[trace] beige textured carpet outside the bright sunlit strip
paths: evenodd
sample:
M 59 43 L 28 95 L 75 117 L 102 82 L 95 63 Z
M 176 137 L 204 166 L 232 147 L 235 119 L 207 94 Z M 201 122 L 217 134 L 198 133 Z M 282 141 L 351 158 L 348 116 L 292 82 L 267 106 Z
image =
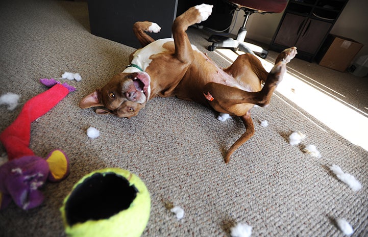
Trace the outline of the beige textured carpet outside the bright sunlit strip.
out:
M 1 210 L 0 236 L 65 236 L 59 212 L 64 197 L 84 175 L 106 167 L 128 169 L 148 187 L 152 209 L 142 236 L 230 236 L 236 223 L 251 225 L 252 236 L 342 236 L 339 218 L 353 226 L 352 236 L 368 235 L 368 152 L 297 112 L 281 94 L 269 107 L 252 109 L 256 134 L 226 165 L 224 152 L 244 132 L 240 119 L 220 122 L 199 104 L 176 98 L 153 99 L 130 120 L 79 109 L 79 100 L 120 72 L 134 50 L 90 34 L 86 3 L 1 1 L 0 23 L 0 94 L 21 95 L 14 111 L 0 107 L 0 131 L 27 100 L 46 90 L 39 78 L 64 71 L 82 76 L 81 82 L 68 82 L 77 91 L 31 127 L 31 149 L 42 157 L 64 150 L 70 175 L 42 188 L 41 206 L 24 211 L 12 203 Z M 208 52 L 208 33 L 190 29 L 189 36 Z M 215 52 L 208 55 L 229 65 Z M 268 59 L 276 55 L 270 52 Z M 298 59 L 289 66 L 343 91 L 357 108 L 367 107 L 366 78 Z M 267 127 L 260 126 L 263 120 Z M 86 136 L 89 126 L 100 130 L 99 138 Z M 291 146 L 288 136 L 296 130 L 307 137 Z M 317 146 L 320 159 L 302 151 L 308 144 Z M 5 155 L 4 147 L 0 152 Z M 354 192 L 337 180 L 329 171 L 333 164 L 363 188 Z M 167 203 L 183 207 L 184 218 L 178 221 Z

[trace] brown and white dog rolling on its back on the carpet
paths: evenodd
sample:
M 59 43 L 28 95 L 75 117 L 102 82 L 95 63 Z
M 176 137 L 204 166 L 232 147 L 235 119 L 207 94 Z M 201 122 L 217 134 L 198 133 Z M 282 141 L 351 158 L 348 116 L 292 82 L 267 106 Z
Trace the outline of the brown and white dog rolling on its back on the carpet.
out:
M 97 114 L 131 118 L 151 98 L 177 96 L 219 113 L 238 116 L 246 132 L 228 150 L 228 163 L 230 155 L 254 134 L 250 109 L 254 104 L 267 106 L 282 80 L 286 63 L 297 50 L 292 47 L 281 52 L 269 73 L 252 54 L 239 56 L 222 70 L 190 44 L 185 32 L 190 25 L 206 20 L 211 12 L 212 6 L 202 4 L 178 16 L 172 28 L 174 39 L 155 41 L 145 32 L 158 32 L 160 27 L 148 21 L 136 22 L 133 30 L 143 48 L 133 52 L 131 64 L 123 72 L 84 97 L 79 106 L 98 107 Z

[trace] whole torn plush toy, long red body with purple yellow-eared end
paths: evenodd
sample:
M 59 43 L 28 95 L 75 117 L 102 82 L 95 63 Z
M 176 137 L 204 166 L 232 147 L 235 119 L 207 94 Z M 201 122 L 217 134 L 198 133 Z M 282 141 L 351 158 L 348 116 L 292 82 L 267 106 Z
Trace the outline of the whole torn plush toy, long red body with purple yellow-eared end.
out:
M 8 153 L 8 162 L 0 166 L 0 208 L 11 200 L 23 209 L 38 206 L 43 195 L 38 190 L 46 179 L 60 181 L 69 173 L 69 161 L 61 150 L 52 151 L 46 159 L 29 148 L 31 123 L 50 111 L 75 88 L 51 79 L 40 80 L 51 89 L 27 101 L 15 121 L 2 134 L 0 141 Z

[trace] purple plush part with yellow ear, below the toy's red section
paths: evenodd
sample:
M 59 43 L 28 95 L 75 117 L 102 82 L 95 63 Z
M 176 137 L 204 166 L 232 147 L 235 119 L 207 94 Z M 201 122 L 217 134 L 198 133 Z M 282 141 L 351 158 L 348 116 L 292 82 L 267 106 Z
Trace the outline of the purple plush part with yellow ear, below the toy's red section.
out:
M 43 202 L 38 189 L 48 181 L 60 181 L 69 174 L 67 156 L 61 150 L 53 150 L 46 159 L 36 155 L 22 156 L 0 167 L 0 208 L 11 200 L 24 210 Z

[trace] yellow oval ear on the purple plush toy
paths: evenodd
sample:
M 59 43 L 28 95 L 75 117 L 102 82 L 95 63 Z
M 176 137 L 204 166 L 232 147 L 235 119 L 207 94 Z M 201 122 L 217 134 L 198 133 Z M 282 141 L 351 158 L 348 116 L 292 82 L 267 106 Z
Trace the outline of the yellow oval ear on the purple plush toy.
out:
M 54 150 L 46 161 L 50 167 L 50 173 L 56 180 L 62 179 L 68 172 L 68 161 L 60 150 Z

